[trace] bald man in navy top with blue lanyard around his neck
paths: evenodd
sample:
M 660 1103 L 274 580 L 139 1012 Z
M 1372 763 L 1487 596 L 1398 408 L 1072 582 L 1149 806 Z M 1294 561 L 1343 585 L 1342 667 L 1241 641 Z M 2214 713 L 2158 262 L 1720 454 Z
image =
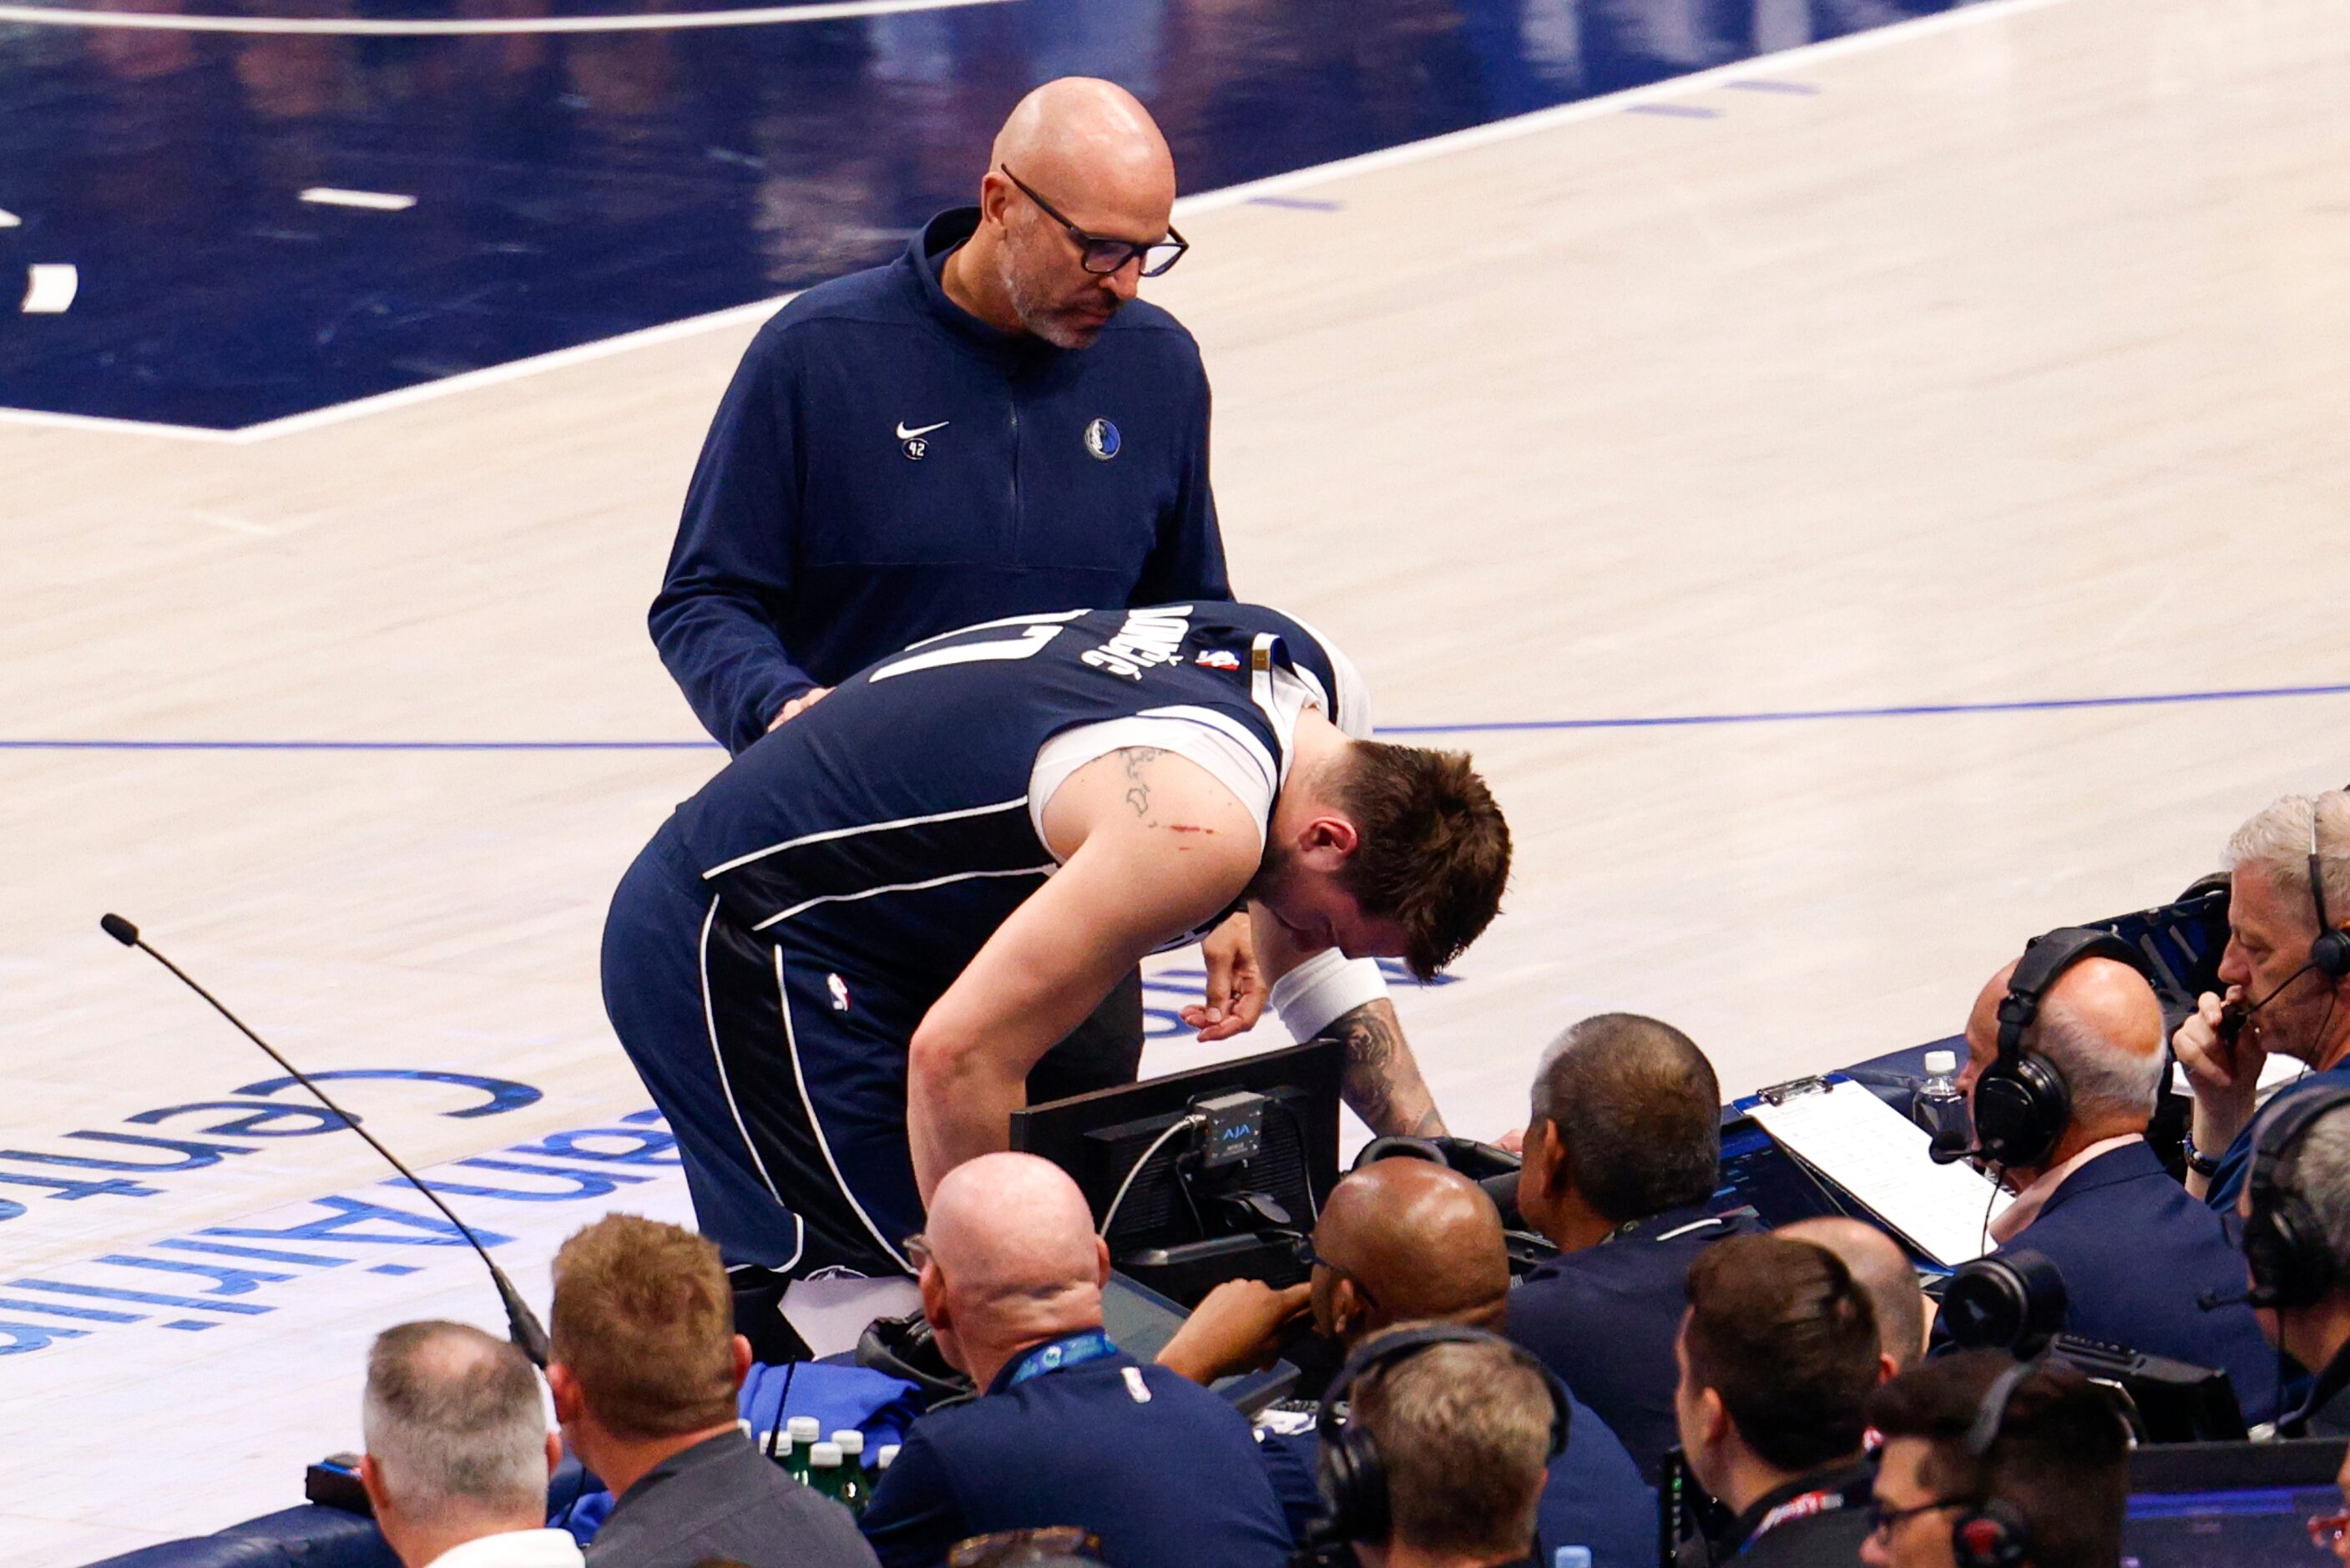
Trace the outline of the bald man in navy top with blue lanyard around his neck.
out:
M 1109 1248 L 1083 1194 L 1034 1154 L 949 1171 L 916 1237 L 921 1305 L 980 1399 L 905 1434 L 865 1509 L 886 1568 L 971 1535 L 1083 1526 L 1119 1568 L 1274 1568 L 1290 1554 L 1248 1422 L 1102 1333 Z

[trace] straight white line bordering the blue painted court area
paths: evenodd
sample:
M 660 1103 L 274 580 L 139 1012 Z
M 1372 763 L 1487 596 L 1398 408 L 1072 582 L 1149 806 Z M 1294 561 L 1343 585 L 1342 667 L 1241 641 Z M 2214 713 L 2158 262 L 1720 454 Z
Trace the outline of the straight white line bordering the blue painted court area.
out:
M 1685 92 L 1708 92 L 1713 87 L 1727 85 L 1732 78 L 1744 78 L 1753 73 L 1760 61 L 1770 61 L 1774 68 L 1810 66 L 1828 59 L 1840 59 L 1845 54 L 1866 54 L 1871 49 L 1882 49 L 1889 45 L 1911 42 L 1915 38 L 1932 38 L 1934 33 L 1948 33 L 1955 28 L 1974 26 L 1979 21 L 1993 21 L 2005 16 L 2019 16 L 2023 12 L 2037 12 L 2052 5 L 2063 5 L 2063 0 L 1981 0 L 1981 5 L 1967 5 L 1955 12 L 1936 12 L 1932 16 L 1918 16 L 1911 21 L 1894 21 L 1882 28 L 1871 28 L 1866 33 L 1847 33 L 1845 38 L 1826 38 L 1814 45 L 1802 45 L 1795 49 L 1781 49 L 1779 54 L 1760 54 L 1755 59 L 1732 61 L 1727 66 L 1716 66 L 1711 71 L 1697 71 L 1692 75 L 1676 75 L 1664 82 L 1650 82 L 1647 87 L 1629 87 L 1624 92 L 1612 92 L 1600 99 L 1582 99 L 1577 103 L 1558 103 L 1553 108 L 1537 108 L 1525 115 L 1513 115 L 1509 120 L 1495 120 L 1490 125 L 1473 125 L 1459 132 L 1445 132 L 1443 136 L 1429 136 L 1424 141 L 1405 141 L 1403 146 L 1379 148 L 1377 153 L 1361 153 L 1356 158 L 1340 158 L 1335 162 L 1314 165 L 1311 169 L 1292 169 L 1290 174 L 1274 174 L 1267 179 L 1250 181 L 1246 186 L 1227 186 L 1224 190 L 1203 190 L 1198 195 L 1187 195 L 1175 202 L 1177 214 L 1215 212 L 1217 207 L 1238 207 L 1241 202 L 1255 200 L 1260 195 L 1281 195 L 1288 190 L 1304 190 L 1335 179 L 1349 179 L 1354 174 L 1370 174 L 1375 169 L 1391 169 L 1398 165 L 1422 162 L 1426 158 L 1443 158 L 1448 153 L 1466 153 L 1471 148 L 1492 146 L 1499 141 L 1513 141 L 1518 136 L 1532 136 L 1560 125 L 1574 125 L 1577 120 L 1596 120 L 1600 115 L 1612 115 L 1633 103 L 1647 103 L 1654 99 L 1671 99 Z M 7 19 L 12 7 L 0 7 L 0 21 Z M 24 7 L 14 7 L 24 9 Z M 1718 134 L 1718 127 L 1708 125 L 1699 132 L 1694 125 L 1692 134 Z M 634 348 L 649 348 L 653 343 L 670 343 L 674 339 L 696 336 L 703 331 L 717 331 L 721 327 L 733 327 L 747 320 L 764 320 L 787 306 L 794 294 L 778 294 L 776 299 L 761 299 L 747 306 L 728 306 L 726 310 L 712 310 L 707 315 L 689 315 L 677 322 L 663 322 L 660 327 L 642 327 L 637 331 L 625 331 L 616 339 L 597 339 L 595 343 L 578 343 L 573 348 L 557 348 L 555 353 L 531 355 L 529 360 L 508 360 L 505 364 L 489 364 L 477 371 L 463 371 L 458 376 L 444 376 L 439 381 L 423 381 L 418 386 L 407 386 L 392 393 L 378 393 L 374 397 L 360 397 L 355 402 L 338 402 L 331 409 L 310 409 L 308 414 L 287 414 L 284 418 L 273 418 L 258 425 L 244 425 L 242 430 L 202 430 L 195 425 L 148 425 L 132 418 L 94 418 L 82 414 L 38 414 L 31 409 L 0 409 L 0 423 L 24 423 L 24 425 L 56 425 L 56 428 L 108 428 L 108 430 L 139 430 L 146 435 L 164 435 L 179 440 L 200 442 L 228 442 L 244 447 L 251 442 L 275 440 L 280 435 L 296 435 L 303 430 L 317 430 L 322 425 L 338 425 L 350 418 L 364 418 L 369 414 L 381 414 L 388 409 L 402 409 L 430 397 L 446 397 L 451 393 L 468 393 L 479 386 L 498 386 L 505 381 L 522 381 L 524 376 L 536 376 L 550 369 L 564 369 L 571 364 L 585 364 L 590 360 L 602 360 L 606 355 L 630 353 Z

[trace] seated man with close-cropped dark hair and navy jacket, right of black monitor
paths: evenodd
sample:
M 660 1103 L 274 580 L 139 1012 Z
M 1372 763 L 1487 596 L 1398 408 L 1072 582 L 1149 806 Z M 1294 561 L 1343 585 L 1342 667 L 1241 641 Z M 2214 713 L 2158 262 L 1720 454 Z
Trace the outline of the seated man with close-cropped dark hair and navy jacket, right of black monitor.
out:
M 1713 1215 L 1723 1093 L 1680 1030 L 1586 1018 L 1544 1053 L 1518 1208 L 1558 1246 L 1509 1293 L 1502 1333 L 1600 1413 L 1652 1483 L 1673 1434 L 1673 1335 L 1690 1262 L 1746 1215 Z

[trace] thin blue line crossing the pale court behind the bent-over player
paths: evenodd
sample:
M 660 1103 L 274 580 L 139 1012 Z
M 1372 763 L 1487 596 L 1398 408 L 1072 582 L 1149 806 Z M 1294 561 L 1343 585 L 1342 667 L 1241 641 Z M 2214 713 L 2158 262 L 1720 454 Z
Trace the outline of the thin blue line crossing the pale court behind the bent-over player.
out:
M 1807 724 L 1814 719 L 1922 719 L 1967 712 L 2068 712 L 2075 708 L 2176 708 L 2251 703 L 2280 696 L 2350 696 L 2326 686 L 2237 686 L 2228 691 L 2146 691 L 2136 696 L 2049 696 L 2016 703 L 1901 703 L 1894 708 L 1774 708 L 1762 712 L 1671 712 L 1624 719 L 1485 719 L 1469 724 L 1382 724 L 1382 736 L 1473 736 L 1539 729 L 1697 729 L 1713 724 Z M 700 752 L 714 741 L 0 741 L 0 752 Z

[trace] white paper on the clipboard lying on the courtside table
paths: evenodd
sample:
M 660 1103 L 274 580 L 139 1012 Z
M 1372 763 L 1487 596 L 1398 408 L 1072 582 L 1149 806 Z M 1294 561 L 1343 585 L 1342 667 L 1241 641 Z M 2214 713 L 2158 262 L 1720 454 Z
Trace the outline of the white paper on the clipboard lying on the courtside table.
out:
M 1762 1091 L 1741 1110 L 1889 1232 L 1946 1269 L 1990 1251 L 1990 1220 L 2012 1201 L 1967 1164 L 1936 1166 L 1915 1121 L 1842 1074 Z

